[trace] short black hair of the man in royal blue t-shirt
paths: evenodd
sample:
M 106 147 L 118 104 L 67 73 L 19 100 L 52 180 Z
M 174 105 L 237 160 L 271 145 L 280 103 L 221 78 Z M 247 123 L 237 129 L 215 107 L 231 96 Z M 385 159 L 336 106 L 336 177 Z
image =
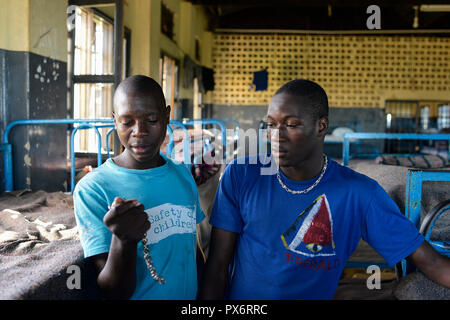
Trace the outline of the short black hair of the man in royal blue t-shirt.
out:
M 313 120 L 328 117 L 328 97 L 325 90 L 317 83 L 306 79 L 295 79 L 279 88 L 275 95 L 287 93 L 308 102 Z

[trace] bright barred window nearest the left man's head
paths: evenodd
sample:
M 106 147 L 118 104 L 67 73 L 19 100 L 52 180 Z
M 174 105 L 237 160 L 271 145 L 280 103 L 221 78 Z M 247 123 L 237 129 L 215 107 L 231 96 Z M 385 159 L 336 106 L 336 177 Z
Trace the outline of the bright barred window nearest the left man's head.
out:
M 114 74 L 114 26 L 92 9 L 76 9 L 74 75 Z M 74 118 L 111 118 L 114 85 L 112 83 L 75 83 Z M 99 129 L 106 139 L 109 128 Z M 112 143 L 111 135 L 110 146 Z M 94 130 L 80 130 L 74 141 L 75 152 L 97 152 Z M 106 141 L 102 141 L 106 153 Z

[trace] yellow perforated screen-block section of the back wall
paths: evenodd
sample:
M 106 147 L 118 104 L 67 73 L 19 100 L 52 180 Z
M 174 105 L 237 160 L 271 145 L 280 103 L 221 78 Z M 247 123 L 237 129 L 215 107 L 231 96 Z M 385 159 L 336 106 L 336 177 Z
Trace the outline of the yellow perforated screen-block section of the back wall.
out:
M 295 78 L 318 82 L 333 107 L 379 107 L 392 94 L 436 99 L 450 90 L 450 38 L 410 35 L 218 33 L 213 41 L 216 105 L 267 105 Z M 251 88 L 267 68 L 267 91 Z M 392 98 L 392 97 L 391 97 Z

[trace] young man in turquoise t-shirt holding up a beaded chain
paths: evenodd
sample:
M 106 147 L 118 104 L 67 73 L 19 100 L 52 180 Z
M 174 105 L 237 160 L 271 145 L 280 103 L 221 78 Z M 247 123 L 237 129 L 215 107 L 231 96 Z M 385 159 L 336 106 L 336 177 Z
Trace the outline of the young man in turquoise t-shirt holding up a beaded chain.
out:
M 196 298 L 196 224 L 204 215 L 190 172 L 159 151 L 169 114 L 156 81 L 125 79 L 114 95 L 125 150 L 75 188 L 84 255 L 105 298 Z

